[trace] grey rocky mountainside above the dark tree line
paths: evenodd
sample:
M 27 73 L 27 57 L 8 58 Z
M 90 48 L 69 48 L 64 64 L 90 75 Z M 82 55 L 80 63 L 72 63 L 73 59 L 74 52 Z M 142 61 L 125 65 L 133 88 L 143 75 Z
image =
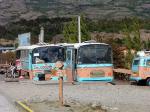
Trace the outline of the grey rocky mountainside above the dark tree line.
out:
M 150 0 L 0 0 L 0 25 L 39 16 L 84 14 L 89 18 L 150 18 Z

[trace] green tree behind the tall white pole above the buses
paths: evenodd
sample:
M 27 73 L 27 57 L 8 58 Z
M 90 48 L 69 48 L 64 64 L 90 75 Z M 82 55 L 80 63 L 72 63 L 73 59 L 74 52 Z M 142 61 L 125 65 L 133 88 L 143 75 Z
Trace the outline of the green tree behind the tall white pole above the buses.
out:
M 85 18 L 81 16 L 81 40 L 86 41 L 90 39 L 90 33 L 88 32 Z M 78 22 L 76 18 L 73 18 L 71 22 L 66 23 L 63 29 L 63 35 L 65 42 L 75 43 L 78 42 Z

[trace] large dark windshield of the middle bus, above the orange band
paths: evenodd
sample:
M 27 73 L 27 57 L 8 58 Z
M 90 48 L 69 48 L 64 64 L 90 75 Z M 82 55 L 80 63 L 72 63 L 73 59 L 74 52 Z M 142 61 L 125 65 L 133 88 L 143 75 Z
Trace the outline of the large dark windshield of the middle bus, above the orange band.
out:
M 112 63 L 112 51 L 109 45 L 84 45 L 78 51 L 78 64 Z

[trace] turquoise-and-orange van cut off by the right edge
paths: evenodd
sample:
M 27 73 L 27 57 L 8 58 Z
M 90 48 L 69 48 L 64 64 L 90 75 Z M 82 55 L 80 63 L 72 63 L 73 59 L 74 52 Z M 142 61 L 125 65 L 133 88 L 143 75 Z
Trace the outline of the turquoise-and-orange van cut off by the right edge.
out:
M 150 51 L 138 51 L 132 62 L 130 81 L 144 81 L 150 86 Z

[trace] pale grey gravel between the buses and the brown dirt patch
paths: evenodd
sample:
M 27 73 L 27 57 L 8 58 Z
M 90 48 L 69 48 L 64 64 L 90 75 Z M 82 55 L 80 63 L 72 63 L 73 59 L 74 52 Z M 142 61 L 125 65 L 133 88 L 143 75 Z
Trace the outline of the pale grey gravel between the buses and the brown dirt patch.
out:
M 0 81 L 0 91 L 12 101 L 58 100 L 58 84 L 51 82 L 36 85 L 28 80 L 9 83 Z M 150 87 L 147 86 L 106 83 L 64 84 L 64 99 L 66 102 L 101 104 L 109 112 L 150 112 Z

